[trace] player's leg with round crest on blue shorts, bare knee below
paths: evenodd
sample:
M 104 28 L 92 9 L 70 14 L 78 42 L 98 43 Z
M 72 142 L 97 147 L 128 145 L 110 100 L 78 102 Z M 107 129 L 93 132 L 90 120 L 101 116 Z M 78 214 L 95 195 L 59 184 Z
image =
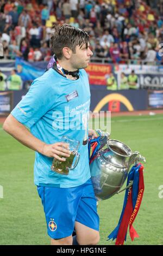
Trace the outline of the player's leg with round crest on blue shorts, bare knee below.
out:
M 37 187 L 45 212 L 47 233 L 52 245 L 72 245 L 81 189 Z

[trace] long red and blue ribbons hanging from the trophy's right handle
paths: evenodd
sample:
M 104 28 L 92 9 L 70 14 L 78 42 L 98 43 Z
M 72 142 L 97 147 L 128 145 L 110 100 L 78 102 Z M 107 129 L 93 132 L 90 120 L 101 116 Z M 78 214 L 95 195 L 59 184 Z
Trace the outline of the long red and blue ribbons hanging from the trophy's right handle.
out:
M 108 240 L 116 239 L 115 245 L 123 245 L 124 240 L 126 241 L 128 225 L 131 240 L 133 241 L 135 237 L 139 237 L 133 227 L 133 222 L 135 221 L 136 215 L 140 209 L 145 189 L 143 181 L 143 165 L 141 163 L 134 165 L 131 168 L 128 174 L 127 186 L 131 181 L 133 181 L 133 186 L 126 189 L 123 209 L 118 225 L 108 236 Z

